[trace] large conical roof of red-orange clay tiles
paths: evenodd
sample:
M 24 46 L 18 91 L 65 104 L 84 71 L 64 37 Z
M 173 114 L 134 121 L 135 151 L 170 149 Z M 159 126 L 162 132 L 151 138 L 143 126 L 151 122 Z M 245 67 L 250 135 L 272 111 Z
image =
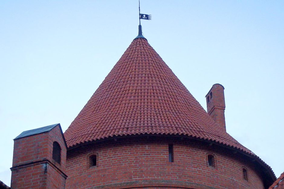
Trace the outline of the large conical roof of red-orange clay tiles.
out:
M 71 147 L 134 134 L 188 135 L 250 153 L 215 124 L 145 38 L 133 40 L 64 136 Z

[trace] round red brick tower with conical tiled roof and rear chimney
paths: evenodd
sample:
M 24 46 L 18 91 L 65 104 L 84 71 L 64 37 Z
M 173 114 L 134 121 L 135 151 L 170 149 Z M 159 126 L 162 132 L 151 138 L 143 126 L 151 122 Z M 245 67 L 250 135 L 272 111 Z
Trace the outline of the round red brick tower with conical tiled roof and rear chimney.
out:
M 223 90 L 208 114 L 139 26 L 64 133 L 66 188 L 268 188 L 271 168 L 225 130 Z

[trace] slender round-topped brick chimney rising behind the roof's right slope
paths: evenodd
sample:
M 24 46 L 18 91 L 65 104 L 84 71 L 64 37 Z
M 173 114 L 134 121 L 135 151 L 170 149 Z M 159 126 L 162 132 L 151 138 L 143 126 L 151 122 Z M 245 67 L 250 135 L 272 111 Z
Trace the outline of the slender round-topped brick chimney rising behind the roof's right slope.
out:
M 221 84 L 214 84 L 207 95 L 207 113 L 214 121 L 226 131 L 225 123 L 225 96 L 224 87 Z

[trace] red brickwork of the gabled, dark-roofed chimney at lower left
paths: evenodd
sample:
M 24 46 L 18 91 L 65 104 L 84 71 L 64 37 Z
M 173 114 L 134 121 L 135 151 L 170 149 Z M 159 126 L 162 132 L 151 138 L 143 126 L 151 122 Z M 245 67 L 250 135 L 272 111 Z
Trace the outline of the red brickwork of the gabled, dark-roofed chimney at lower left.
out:
M 52 159 L 54 141 L 61 147 L 60 164 Z M 12 188 L 64 188 L 66 146 L 59 126 L 48 133 L 14 140 L 11 170 Z

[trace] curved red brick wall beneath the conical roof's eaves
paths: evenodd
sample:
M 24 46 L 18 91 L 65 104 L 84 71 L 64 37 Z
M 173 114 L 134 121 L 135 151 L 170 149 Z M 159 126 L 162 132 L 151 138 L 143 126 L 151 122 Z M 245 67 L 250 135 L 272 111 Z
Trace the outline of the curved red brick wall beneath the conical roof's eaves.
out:
M 174 162 L 168 159 L 168 144 L 174 146 Z M 97 155 L 90 167 L 89 156 Z M 207 165 L 213 154 L 216 168 Z M 66 188 L 263 188 L 253 166 L 239 155 L 200 141 L 164 137 L 139 137 L 90 144 L 67 153 Z M 242 167 L 249 179 L 242 177 Z

